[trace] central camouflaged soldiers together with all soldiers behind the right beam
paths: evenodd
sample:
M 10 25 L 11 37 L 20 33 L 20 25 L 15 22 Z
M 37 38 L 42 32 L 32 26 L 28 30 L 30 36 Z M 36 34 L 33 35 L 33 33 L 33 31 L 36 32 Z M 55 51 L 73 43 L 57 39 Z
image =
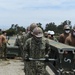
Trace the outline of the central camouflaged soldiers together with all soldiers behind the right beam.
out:
M 50 39 L 67 45 L 75 46 L 75 26 L 71 30 L 69 25 L 64 26 L 64 32 L 57 40 L 54 31 L 46 31 L 32 23 L 27 27 L 26 33 L 21 36 L 22 57 L 24 60 L 25 75 L 47 75 L 46 63 L 41 61 L 29 61 L 28 58 L 45 58 L 51 52 Z

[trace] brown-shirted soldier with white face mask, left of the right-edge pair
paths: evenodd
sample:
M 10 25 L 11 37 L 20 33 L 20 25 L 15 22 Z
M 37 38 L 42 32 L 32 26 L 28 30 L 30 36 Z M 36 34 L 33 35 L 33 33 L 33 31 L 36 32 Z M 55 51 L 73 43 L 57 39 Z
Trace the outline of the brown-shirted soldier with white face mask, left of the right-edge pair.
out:
M 64 33 L 60 34 L 59 36 L 59 42 L 65 43 L 66 37 L 68 37 L 70 34 L 70 27 L 69 25 L 64 26 Z

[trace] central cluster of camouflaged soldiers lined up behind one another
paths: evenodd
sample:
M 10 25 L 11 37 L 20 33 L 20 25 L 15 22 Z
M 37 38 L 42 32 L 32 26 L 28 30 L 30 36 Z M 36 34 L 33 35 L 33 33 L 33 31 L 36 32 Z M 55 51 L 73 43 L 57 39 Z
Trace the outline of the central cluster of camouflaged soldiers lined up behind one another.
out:
M 47 75 L 46 63 L 41 61 L 28 61 L 28 58 L 45 58 L 50 53 L 49 40 L 43 37 L 43 30 L 32 23 L 21 36 L 23 47 L 22 57 L 24 60 L 25 75 Z

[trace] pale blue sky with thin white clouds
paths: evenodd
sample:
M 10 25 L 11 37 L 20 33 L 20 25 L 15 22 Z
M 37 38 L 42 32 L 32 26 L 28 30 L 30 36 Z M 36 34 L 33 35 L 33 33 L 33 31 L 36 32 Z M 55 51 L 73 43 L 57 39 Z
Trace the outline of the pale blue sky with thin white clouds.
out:
M 0 0 L 0 28 L 11 24 L 27 27 L 31 23 L 61 24 L 70 20 L 75 24 L 75 0 Z

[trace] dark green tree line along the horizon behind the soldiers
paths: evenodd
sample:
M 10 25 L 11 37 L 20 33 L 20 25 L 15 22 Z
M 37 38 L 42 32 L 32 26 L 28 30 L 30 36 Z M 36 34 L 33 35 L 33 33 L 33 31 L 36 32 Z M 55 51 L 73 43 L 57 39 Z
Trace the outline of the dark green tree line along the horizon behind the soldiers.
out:
M 56 25 L 54 22 L 47 23 L 45 25 L 45 29 L 42 27 L 42 23 L 37 23 L 37 25 L 41 27 L 43 31 L 53 30 L 57 35 L 63 32 L 63 27 L 66 24 L 68 24 L 70 28 L 72 28 L 71 21 L 69 20 L 61 22 L 60 25 Z M 26 31 L 26 28 L 24 28 L 23 26 L 19 26 L 18 24 L 12 24 L 11 27 L 6 30 L 8 36 L 16 35 L 20 33 L 20 31 L 24 32 Z

